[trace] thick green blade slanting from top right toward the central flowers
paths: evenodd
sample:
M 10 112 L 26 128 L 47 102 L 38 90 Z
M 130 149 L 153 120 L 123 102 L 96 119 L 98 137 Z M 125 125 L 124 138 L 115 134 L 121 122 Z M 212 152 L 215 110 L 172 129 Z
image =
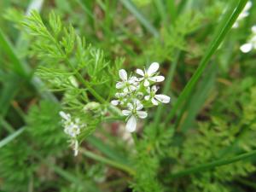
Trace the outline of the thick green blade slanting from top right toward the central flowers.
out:
M 182 93 L 177 99 L 177 102 L 174 104 L 171 113 L 166 118 L 166 123 L 168 123 L 174 115 L 177 113 L 177 109 L 183 104 L 186 98 L 191 93 L 191 90 L 195 87 L 195 84 L 200 79 L 201 74 L 204 72 L 205 68 L 207 67 L 208 62 L 210 61 L 212 55 L 218 49 L 218 46 L 224 40 L 226 34 L 230 31 L 230 28 L 233 26 L 236 18 L 241 13 L 242 9 L 245 7 L 247 0 L 240 0 L 238 5 L 236 3 L 233 9 L 227 13 L 229 16 L 228 19 L 224 17 L 224 25 L 219 27 L 219 30 L 215 33 L 215 36 L 212 38 L 212 43 L 209 45 L 207 49 L 206 55 L 202 58 L 199 67 L 196 69 L 195 73 L 193 74 L 192 78 L 189 80 L 189 83 L 186 84 L 185 88 L 183 89 Z M 222 24 L 222 23 L 221 23 Z

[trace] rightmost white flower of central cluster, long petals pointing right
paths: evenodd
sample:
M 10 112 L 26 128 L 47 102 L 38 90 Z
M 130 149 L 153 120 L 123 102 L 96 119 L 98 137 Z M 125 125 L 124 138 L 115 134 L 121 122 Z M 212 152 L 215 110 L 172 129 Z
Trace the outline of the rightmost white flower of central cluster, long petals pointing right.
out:
M 159 102 L 163 102 L 163 103 L 170 102 L 170 100 L 171 100 L 170 96 L 166 96 L 163 94 L 156 94 L 157 90 L 158 90 L 158 88 L 155 85 L 152 86 L 151 89 L 148 87 L 147 92 L 149 95 L 144 97 L 145 100 L 146 101 L 150 100 L 154 105 L 158 105 Z

